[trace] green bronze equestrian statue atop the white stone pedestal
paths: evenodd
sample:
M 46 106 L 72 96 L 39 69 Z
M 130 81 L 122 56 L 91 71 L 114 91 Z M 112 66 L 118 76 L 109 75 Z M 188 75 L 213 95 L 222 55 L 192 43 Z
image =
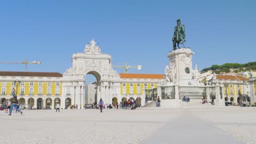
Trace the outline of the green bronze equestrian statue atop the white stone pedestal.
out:
M 181 25 L 181 20 L 177 20 L 177 26 L 174 28 L 174 34 L 172 37 L 173 50 L 177 50 L 177 46 L 179 47 L 179 43 L 181 43 L 184 47 L 185 40 L 185 26 Z M 177 44 L 177 46 L 176 46 Z

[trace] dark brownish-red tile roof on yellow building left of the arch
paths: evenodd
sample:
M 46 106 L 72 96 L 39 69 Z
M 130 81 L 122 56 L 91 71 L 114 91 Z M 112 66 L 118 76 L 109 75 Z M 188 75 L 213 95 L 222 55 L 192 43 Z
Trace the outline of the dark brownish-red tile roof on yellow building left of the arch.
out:
M 24 71 L 0 71 L 0 76 L 63 77 L 61 73 L 51 73 L 51 72 L 24 72 Z

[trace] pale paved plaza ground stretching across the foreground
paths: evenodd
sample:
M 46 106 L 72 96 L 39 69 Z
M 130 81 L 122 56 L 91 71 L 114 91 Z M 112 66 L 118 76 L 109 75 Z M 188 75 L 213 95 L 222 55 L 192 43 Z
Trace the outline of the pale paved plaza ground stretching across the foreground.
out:
M 0 112 L 1 143 L 256 143 L 256 107 Z

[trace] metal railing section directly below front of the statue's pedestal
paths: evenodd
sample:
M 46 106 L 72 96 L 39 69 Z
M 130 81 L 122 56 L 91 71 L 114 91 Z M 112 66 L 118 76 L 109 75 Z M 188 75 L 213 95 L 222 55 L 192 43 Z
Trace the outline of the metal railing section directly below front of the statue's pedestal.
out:
M 206 96 L 205 87 L 179 87 L 179 99 L 189 97 L 189 99 L 202 99 Z

